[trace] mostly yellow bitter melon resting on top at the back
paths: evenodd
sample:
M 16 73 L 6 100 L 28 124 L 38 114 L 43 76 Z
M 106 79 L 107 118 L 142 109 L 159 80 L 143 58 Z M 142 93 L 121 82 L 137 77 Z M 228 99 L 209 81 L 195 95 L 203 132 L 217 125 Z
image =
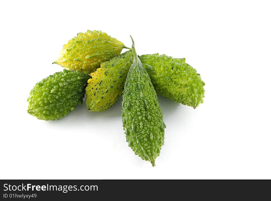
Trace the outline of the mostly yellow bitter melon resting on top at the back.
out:
M 84 73 L 94 72 L 100 64 L 118 56 L 124 44 L 101 31 L 78 33 L 63 46 L 59 57 L 54 62 L 68 70 Z M 53 64 L 54 64 L 53 63 Z

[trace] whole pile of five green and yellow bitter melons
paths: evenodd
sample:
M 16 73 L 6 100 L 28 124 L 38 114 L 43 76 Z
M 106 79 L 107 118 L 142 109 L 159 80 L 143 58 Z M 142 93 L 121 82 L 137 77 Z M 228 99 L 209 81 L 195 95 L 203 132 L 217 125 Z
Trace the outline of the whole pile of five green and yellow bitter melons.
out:
M 123 94 L 128 145 L 154 166 L 166 128 L 156 93 L 196 108 L 203 102 L 205 84 L 184 58 L 138 56 L 132 42 L 128 48 L 101 31 L 77 34 L 54 62 L 67 70 L 36 83 L 27 111 L 38 119 L 55 120 L 82 104 L 85 94 L 89 111 L 107 110 Z M 123 48 L 129 50 L 120 54 Z

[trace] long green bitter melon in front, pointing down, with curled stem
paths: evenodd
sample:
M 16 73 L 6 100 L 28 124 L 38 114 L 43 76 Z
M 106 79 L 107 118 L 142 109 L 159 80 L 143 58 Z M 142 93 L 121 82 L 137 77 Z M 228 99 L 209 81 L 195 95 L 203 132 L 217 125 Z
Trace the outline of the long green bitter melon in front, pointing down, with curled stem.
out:
M 166 126 L 151 79 L 135 54 L 123 91 L 123 129 L 129 147 L 154 166 L 164 145 Z

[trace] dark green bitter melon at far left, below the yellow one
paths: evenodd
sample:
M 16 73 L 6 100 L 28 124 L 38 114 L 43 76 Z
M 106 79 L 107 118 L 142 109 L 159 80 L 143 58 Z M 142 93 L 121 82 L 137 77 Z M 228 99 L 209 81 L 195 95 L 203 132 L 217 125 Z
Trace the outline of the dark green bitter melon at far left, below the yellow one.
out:
M 68 70 L 49 75 L 30 91 L 27 112 L 43 120 L 62 118 L 83 102 L 89 78 L 85 73 Z

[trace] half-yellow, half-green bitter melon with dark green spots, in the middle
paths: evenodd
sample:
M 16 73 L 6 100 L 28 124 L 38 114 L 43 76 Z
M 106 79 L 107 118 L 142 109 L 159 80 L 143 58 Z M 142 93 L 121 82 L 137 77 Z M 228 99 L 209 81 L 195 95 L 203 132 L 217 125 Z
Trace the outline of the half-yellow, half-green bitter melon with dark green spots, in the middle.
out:
M 131 64 L 131 50 L 101 64 L 87 81 L 86 105 L 89 111 L 103 111 L 111 107 L 122 95 Z

